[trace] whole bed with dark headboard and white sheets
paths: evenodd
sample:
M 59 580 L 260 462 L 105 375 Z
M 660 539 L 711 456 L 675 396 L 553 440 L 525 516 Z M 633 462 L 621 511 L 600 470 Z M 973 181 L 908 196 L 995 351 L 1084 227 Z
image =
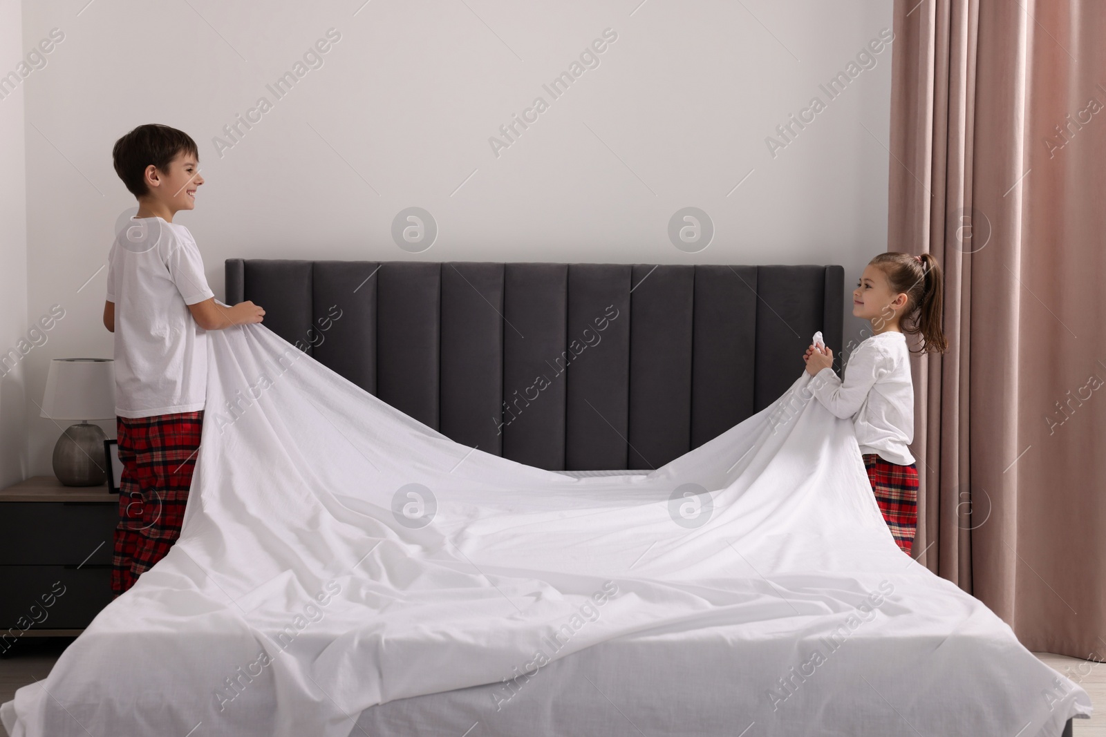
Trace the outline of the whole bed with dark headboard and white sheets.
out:
M 1056 737 L 1092 713 L 902 554 L 810 396 L 839 267 L 227 266 L 269 325 L 207 335 L 180 537 L 0 705 L 12 737 Z

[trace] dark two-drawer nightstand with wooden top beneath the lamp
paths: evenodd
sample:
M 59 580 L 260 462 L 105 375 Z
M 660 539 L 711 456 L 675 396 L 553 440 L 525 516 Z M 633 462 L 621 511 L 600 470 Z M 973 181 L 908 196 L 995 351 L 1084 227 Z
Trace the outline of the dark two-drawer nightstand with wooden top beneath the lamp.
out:
M 0 491 L 0 654 L 21 636 L 80 634 L 112 601 L 119 497 L 33 476 Z

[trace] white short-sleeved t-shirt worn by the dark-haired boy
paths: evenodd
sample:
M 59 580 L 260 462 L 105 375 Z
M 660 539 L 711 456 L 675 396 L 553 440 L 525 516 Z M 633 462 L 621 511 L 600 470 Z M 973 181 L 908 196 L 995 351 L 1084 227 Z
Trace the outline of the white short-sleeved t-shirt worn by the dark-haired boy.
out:
M 195 412 L 207 393 L 207 331 L 188 305 L 215 294 L 184 225 L 132 218 L 107 255 L 115 303 L 115 413 Z

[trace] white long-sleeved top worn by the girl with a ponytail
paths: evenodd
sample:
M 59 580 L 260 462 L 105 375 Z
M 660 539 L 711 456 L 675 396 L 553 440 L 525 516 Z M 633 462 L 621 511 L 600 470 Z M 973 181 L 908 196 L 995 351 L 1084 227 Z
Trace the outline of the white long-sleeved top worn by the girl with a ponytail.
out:
M 842 381 L 833 369 L 818 371 L 812 393 L 836 417 L 853 418 L 860 453 L 910 465 L 914 440 L 914 383 L 906 336 L 887 330 L 856 347 Z

